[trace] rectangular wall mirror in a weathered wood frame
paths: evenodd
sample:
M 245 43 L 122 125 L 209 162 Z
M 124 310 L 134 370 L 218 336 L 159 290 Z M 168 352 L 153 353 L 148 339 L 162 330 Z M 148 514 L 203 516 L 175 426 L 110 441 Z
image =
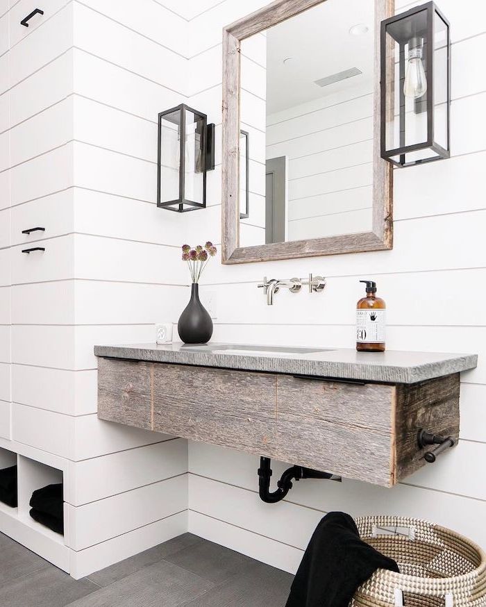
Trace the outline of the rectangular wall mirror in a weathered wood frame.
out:
M 379 81 L 392 14 L 394 0 L 277 0 L 224 28 L 223 263 L 392 248 Z

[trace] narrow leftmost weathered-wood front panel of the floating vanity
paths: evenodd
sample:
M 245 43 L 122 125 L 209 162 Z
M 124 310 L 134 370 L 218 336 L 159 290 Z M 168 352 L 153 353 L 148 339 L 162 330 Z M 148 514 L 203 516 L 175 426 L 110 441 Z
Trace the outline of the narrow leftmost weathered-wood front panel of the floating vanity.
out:
M 98 359 L 98 417 L 151 430 L 152 363 Z

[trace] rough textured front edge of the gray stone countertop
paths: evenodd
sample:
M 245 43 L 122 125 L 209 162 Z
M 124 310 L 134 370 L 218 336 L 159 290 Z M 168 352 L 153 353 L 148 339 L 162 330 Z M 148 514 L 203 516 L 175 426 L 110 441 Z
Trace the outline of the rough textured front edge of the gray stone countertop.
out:
M 477 354 L 446 354 L 444 360 L 435 360 L 418 365 L 386 365 L 374 363 L 371 359 L 363 362 L 340 362 L 332 360 L 311 360 L 306 358 L 281 358 L 271 356 L 215 354 L 211 352 L 173 351 L 139 345 L 99 345 L 94 346 L 96 356 L 143 360 L 151 363 L 171 363 L 198 367 L 219 367 L 245 371 L 283 373 L 287 375 L 311 375 L 335 379 L 355 379 L 383 383 L 417 383 L 453 373 L 474 369 L 478 363 Z M 410 352 L 410 354 L 414 354 Z M 420 353 L 426 354 L 426 353 Z M 431 352 L 433 354 L 440 354 Z M 449 356 L 449 358 L 447 358 Z

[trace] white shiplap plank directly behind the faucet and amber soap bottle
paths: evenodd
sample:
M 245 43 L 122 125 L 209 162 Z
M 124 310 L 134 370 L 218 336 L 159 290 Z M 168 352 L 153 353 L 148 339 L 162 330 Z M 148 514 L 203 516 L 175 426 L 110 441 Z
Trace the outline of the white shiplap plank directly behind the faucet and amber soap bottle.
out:
M 320 272 L 325 267 L 321 265 Z M 315 268 L 315 273 L 317 268 Z M 325 272 L 324 272 L 325 274 Z M 322 275 L 322 274 L 321 274 Z M 454 281 L 461 284 L 462 301 L 455 306 L 455 294 L 442 289 L 444 272 L 424 272 L 413 276 L 414 290 L 421 297 L 404 298 L 408 290 L 410 274 L 384 274 L 375 276 L 378 295 L 387 304 L 387 324 L 389 325 L 443 325 L 443 326 L 476 326 L 485 325 L 483 302 L 477 297 L 476 285 L 486 281 L 486 269 L 458 269 L 449 274 Z M 304 278 L 304 276 L 300 276 Z M 324 292 L 308 294 L 303 290 L 292 294 L 281 290 L 276 294 L 274 306 L 267 306 L 261 289 L 256 288 L 260 278 L 255 276 L 253 283 L 228 284 L 219 293 L 218 322 L 238 323 L 245 317 L 258 318 L 265 324 L 347 324 L 354 325 L 355 302 L 364 293 L 359 282 L 362 276 L 328 277 Z M 201 285 L 201 291 L 214 290 L 213 285 Z M 339 293 L 340 297 L 335 297 Z M 342 302 L 349 304 L 343 306 Z M 427 305 L 424 305 L 427 301 Z M 305 319 L 299 314 L 305 305 Z M 467 310 L 467 314 L 464 314 Z

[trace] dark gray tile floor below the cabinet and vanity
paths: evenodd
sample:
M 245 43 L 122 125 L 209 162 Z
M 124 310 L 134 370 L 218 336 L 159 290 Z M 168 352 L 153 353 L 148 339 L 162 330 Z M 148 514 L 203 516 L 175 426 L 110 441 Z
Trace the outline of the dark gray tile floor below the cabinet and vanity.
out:
M 284 607 L 291 583 L 190 533 L 76 581 L 0 533 L 1 607 Z

